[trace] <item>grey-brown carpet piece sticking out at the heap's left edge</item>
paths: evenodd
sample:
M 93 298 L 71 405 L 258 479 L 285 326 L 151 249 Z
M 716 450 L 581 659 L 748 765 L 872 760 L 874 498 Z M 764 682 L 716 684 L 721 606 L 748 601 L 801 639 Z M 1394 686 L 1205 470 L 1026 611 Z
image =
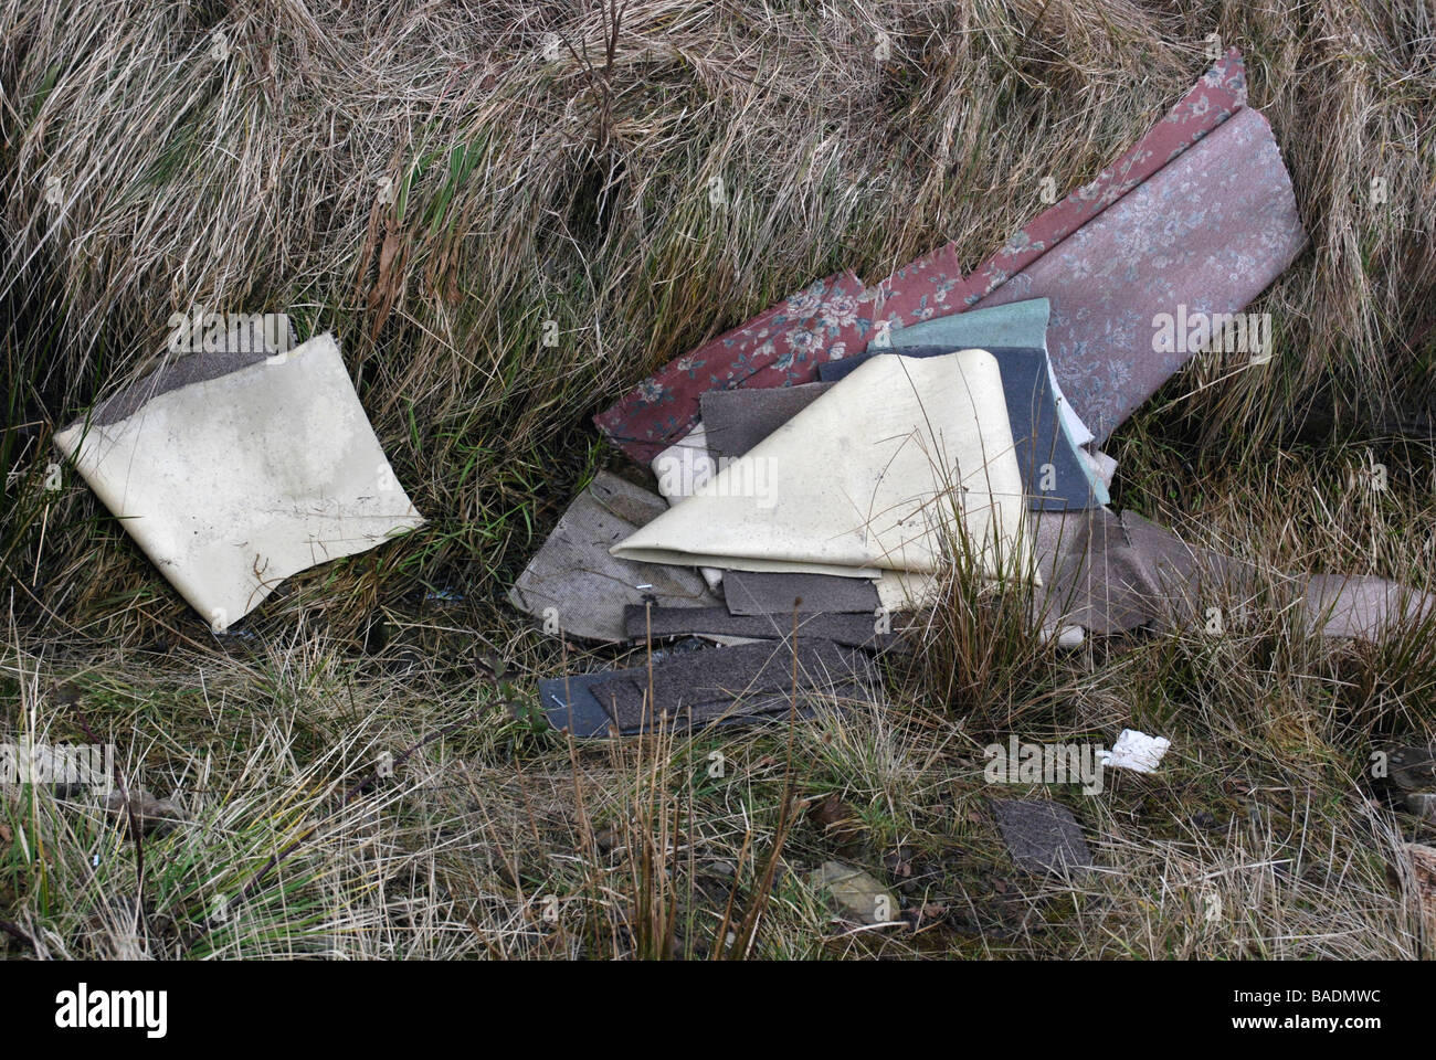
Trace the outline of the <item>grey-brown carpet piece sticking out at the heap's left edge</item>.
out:
M 550 632 L 617 643 L 628 639 L 623 608 L 653 600 L 712 608 L 719 600 L 695 570 L 617 559 L 609 549 L 668 511 L 655 497 L 600 471 L 580 493 L 528 560 L 508 592 L 510 602 Z

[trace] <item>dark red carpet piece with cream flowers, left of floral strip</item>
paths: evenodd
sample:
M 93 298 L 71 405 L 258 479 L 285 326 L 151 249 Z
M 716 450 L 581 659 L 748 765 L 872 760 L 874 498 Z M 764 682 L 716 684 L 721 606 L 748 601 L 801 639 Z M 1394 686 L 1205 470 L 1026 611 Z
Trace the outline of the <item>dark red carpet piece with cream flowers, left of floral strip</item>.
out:
M 752 320 L 671 361 L 593 422 L 640 464 L 698 422 L 705 391 L 790 386 L 817 378 L 817 365 L 867 345 L 872 303 L 853 273 L 819 280 Z

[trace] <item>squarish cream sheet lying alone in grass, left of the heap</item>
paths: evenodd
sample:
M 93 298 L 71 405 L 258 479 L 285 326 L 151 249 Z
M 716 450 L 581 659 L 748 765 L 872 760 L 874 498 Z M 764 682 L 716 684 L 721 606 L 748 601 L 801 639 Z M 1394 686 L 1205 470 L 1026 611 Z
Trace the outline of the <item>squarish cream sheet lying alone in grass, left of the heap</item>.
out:
M 217 632 L 290 575 L 424 523 L 332 335 L 184 358 L 55 442 Z

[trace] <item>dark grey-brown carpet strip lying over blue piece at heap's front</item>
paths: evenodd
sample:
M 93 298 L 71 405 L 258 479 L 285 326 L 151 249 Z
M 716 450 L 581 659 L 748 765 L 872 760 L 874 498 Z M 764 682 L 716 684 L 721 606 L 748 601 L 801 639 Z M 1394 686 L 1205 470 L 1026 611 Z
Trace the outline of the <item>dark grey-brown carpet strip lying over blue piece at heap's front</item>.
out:
M 877 672 L 866 654 L 798 638 L 797 695 L 870 699 Z M 787 714 L 794 697 L 794 649 L 784 641 L 688 652 L 669 662 L 615 674 L 589 691 L 620 733 L 666 724 Z M 651 698 L 652 692 L 652 698 Z

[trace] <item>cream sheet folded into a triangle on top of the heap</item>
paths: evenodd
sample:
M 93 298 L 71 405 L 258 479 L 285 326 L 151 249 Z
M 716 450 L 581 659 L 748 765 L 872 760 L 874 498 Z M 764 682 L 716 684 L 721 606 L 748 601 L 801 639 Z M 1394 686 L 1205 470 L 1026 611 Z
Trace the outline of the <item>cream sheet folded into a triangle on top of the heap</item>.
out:
M 945 534 L 989 576 L 1024 569 L 1022 480 L 982 350 L 873 358 L 613 554 L 873 577 L 935 573 Z

